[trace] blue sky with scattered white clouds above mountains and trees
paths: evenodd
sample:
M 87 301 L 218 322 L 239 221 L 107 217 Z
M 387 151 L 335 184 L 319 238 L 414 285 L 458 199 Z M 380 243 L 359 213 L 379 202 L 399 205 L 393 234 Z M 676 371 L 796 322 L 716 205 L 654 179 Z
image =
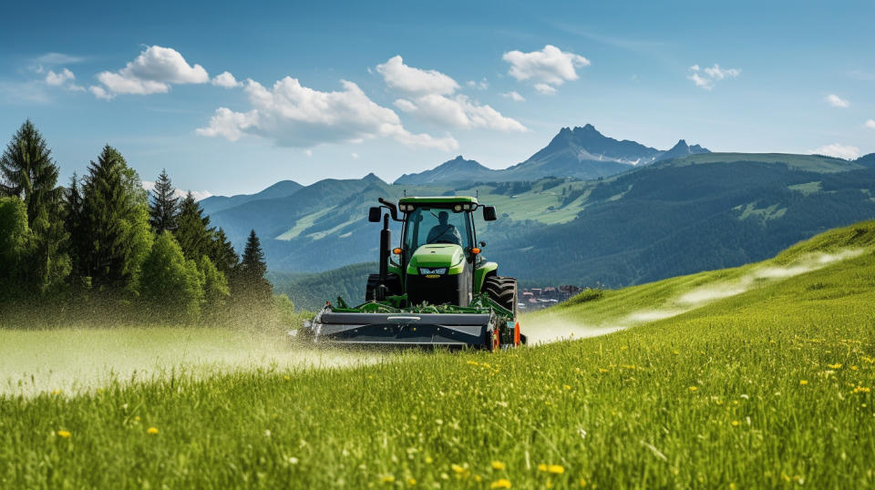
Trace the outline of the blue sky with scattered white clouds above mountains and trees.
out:
M 109 143 L 213 194 L 459 154 L 504 168 L 586 123 L 655 148 L 875 152 L 875 3 L 705 4 L 22 2 L 0 136 L 30 117 L 65 182 Z

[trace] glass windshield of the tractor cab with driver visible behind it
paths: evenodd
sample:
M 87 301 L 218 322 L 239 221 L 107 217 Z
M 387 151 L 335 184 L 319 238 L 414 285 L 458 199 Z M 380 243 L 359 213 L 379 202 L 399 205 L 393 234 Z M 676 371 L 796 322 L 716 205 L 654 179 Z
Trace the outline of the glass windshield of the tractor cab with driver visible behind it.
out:
M 417 208 L 407 214 L 404 248 L 413 253 L 431 243 L 452 243 L 471 248 L 470 213 L 447 208 Z

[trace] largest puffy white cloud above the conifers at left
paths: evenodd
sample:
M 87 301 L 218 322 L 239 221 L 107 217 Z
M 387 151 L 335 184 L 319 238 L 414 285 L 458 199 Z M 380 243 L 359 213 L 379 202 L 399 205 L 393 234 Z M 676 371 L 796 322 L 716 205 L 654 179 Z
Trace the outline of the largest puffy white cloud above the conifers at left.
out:
M 170 84 L 202 84 L 210 81 L 201 65 L 190 66 L 178 51 L 170 47 L 149 46 L 118 72 L 98 73 L 102 87 L 91 88 L 99 98 L 118 94 L 163 94 Z

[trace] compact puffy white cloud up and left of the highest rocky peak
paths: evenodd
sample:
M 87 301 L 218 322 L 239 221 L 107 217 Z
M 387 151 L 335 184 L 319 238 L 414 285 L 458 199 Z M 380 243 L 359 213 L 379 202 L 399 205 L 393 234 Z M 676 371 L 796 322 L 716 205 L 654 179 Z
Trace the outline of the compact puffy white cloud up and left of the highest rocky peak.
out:
M 555 87 L 578 78 L 576 68 L 590 66 L 590 60 L 585 57 L 551 45 L 530 53 L 508 51 L 501 59 L 510 63 L 510 77 L 519 81 L 531 81 L 541 87 L 551 86 L 553 92 Z M 543 89 L 536 89 L 543 93 Z

